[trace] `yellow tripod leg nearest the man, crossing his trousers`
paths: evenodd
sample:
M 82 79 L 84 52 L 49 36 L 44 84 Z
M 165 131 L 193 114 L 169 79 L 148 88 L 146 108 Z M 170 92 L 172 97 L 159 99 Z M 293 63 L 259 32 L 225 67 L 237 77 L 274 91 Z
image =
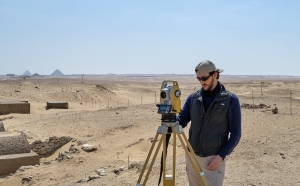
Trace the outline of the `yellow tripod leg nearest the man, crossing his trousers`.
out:
M 184 151 L 185 151 L 185 153 L 186 153 L 189 161 L 191 162 L 193 170 L 196 173 L 196 175 L 197 175 L 197 177 L 198 177 L 201 185 L 203 185 L 203 186 L 210 186 L 210 183 L 209 183 L 207 177 L 205 176 L 205 173 L 203 172 L 203 170 L 202 170 L 202 168 L 201 168 L 201 166 L 200 166 L 200 164 L 199 164 L 199 162 L 197 160 L 197 157 L 196 157 L 196 155 L 194 153 L 193 148 L 191 147 L 189 141 L 187 140 L 184 132 L 182 132 L 181 134 L 182 134 L 182 136 L 184 138 L 185 143 L 184 143 L 184 141 L 183 141 L 183 139 L 182 139 L 182 137 L 181 137 L 180 134 L 177 134 L 178 138 L 179 138 L 179 140 L 180 140 L 180 142 L 181 142 L 181 144 L 183 146 L 183 149 L 184 149 Z M 187 150 L 187 147 L 185 146 L 185 144 L 187 144 L 190 152 Z M 192 155 L 192 157 L 191 157 L 191 155 Z M 195 166 L 195 164 L 196 164 L 197 167 Z

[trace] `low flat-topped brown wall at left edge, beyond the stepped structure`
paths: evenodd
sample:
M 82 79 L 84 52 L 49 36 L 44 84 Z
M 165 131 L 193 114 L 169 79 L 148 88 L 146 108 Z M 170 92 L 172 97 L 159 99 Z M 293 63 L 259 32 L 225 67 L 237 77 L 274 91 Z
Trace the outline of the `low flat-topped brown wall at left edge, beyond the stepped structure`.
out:
M 10 113 L 30 114 L 30 103 L 0 103 L 0 115 Z

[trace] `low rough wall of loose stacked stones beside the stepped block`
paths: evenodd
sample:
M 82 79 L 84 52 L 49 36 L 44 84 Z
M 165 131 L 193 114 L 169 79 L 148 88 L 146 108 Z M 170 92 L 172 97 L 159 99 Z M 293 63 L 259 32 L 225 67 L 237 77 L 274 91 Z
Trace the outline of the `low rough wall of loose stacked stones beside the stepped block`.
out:
M 29 145 L 32 151 L 36 152 L 39 155 L 45 155 L 45 154 L 53 153 L 55 150 L 65 145 L 66 143 L 70 142 L 71 140 L 72 140 L 71 137 L 51 136 L 49 137 L 49 140 L 46 140 L 44 142 L 42 142 L 41 140 L 35 140 Z

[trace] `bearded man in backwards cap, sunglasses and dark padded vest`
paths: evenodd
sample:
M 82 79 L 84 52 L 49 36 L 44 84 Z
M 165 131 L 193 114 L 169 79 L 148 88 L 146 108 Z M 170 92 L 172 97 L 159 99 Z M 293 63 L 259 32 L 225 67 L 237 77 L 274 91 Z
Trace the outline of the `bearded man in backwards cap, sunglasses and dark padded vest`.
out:
M 241 107 L 238 97 L 218 81 L 222 69 L 209 60 L 200 62 L 195 72 L 202 88 L 190 94 L 177 116 L 182 127 L 191 121 L 189 142 L 211 186 L 222 186 L 225 157 L 241 138 Z M 186 157 L 190 186 L 200 182 Z

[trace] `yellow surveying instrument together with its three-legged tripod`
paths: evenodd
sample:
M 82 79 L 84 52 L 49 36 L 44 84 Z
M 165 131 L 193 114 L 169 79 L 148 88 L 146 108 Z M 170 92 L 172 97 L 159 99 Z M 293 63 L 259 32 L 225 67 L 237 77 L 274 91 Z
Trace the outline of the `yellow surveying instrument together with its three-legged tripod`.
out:
M 186 156 L 188 157 L 189 161 L 192 164 L 193 170 L 196 173 L 201 186 L 210 186 L 210 183 L 205 175 L 205 173 L 202 171 L 202 168 L 196 158 L 196 155 L 193 151 L 193 148 L 191 147 L 190 143 L 187 140 L 187 137 L 184 134 L 184 131 L 182 127 L 179 125 L 179 122 L 176 121 L 176 114 L 180 112 L 181 109 L 181 101 L 180 101 L 180 95 L 181 91 L 179 89 L 179 85 L 177 81 L 173 80 L 164 80 L 161 84 L 161 93 L 160 93 L 160 104 L 157 104 L 158 107 L 158 114 L 162 115 L 161 118 L 161 126 L 158 127 L 155 138 L 153 140 L 153 143 L 151 145 L 150 151 L 148 153 L 148 156 L 146 158 L 145 164 L 143 166 L 142 172 L 139 176 L 139 179 L 137 181 L 136 186 L 146 186 L 147 180 L 149 178 L 149 174 L 151 169 L 153 168 L 154 161 L 157 157 L 158 151 L 161 147 L 161 144 L 163 144 L 163 152 L 162 152 L 162 185 L 163 186 L 175 186 L 175 164 L 176 164 L 176 135 L 178 136 L 182 147 L 184 148 L 184 151 L 186 153 Z M 167 175 L 166 174 L 166 156 L 167 156 L 167 147 L 169 144 L 169 139 L 171 137 L 171 134 L 173 134 L 173 162 L 172 162 L 172 174 Z M 158 139 L 158 136 L 161 135 L 161 138 Z M 143 183 L 141 183 L 143 174 L 145 173 L 146 167 L 149 163 L 151 154 L 153 152 L 155 143 L 158 141 L 155 153 L 153 155 L 152 161 L 150 162 L 148 171 L 146 173 L 146 176 L 143 180 Z M 161 178 L 160 178 L 161 179 Z M 158 185 L 160 184 L 160 180 Z

